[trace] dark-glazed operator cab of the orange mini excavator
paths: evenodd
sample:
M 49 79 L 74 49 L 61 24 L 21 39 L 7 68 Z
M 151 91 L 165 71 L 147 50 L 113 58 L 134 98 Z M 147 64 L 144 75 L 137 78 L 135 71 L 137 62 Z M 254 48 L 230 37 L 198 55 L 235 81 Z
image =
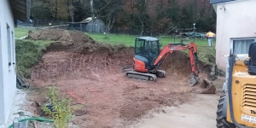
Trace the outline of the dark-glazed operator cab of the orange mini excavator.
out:
M 145 68 L 154 66 L 154 61 L 160 54 L 160 43 L 157 38 L 143 37 L 135 41 L 135 59 L 143 61 Z

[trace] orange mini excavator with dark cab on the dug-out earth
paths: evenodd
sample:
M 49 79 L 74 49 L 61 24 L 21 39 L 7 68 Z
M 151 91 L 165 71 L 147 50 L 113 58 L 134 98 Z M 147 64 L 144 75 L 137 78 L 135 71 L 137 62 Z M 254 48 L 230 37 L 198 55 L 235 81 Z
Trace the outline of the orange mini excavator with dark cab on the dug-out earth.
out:
M 189 86 L 195 85 L 199 80 L 199 69 L 197 63 L 197 49 L 195 43 L 190 44 L 167 44 L 160 51 L 160 42 L 157 38 L 136 38 L 135 56 L 133 58 L 133 70 L 126 72 L 126 76 L 133 79 L 144 79 L 156 81 L 157 77 L 165 78 L 166 72 L 159 70 L 160 65 L 177 50 L 189 49 L 190 63 L 192 67 L 192 78 Z

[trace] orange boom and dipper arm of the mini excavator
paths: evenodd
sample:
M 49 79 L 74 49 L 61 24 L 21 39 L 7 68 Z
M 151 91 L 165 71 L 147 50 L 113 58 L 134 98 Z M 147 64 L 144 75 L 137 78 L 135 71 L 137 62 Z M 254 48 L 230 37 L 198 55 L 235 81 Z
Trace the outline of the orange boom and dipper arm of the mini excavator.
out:
M 193 76 L 190 79 L 189 85 L 193 86 L 199 80 L 199 68 L 198 68 L 198 59 L 197 59 L 197 49 L 195 43 L 188 44 L 167 44 L 164 49 L 161 50 L 160 55 L 154 61 L 154 67 L 160 67 L 163 61 L 171 55 L 174 51 L 177 50 L 186 50 L 189 49 L 189 57 L 190 57 L 190 64 L 192 68 Z

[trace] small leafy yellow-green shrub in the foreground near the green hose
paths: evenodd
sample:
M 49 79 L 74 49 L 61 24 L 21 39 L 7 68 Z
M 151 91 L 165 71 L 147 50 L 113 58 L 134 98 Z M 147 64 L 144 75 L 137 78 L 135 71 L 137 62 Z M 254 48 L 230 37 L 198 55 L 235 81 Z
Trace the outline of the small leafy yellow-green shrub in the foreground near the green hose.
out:
M 70 100 L 59 99 L 55 86 L 49 89 L 49 104 L 44 104 L 42 110 L 54 120 L 56 128 L 67 127 L 68 122 L 72 119 L 73 111 L 70 108 Z

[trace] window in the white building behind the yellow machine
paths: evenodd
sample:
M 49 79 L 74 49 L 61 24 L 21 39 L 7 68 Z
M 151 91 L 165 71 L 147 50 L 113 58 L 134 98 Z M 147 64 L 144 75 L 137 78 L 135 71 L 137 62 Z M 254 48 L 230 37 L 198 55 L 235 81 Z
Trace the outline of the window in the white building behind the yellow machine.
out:
M 233 52 L 236 55 L 248 54 L 249 46 L 255 41 L 253 38 L 248 39 L 234 39 L 233 40 Z

